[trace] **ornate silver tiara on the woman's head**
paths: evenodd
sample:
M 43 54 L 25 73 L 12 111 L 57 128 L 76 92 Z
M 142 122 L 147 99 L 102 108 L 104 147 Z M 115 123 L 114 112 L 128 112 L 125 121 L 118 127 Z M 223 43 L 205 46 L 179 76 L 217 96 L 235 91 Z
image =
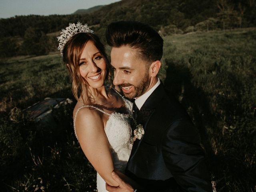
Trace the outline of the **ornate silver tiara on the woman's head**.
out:
M 87 26 L 87 24 L 82 25 L 80 22 L 77 22 L 77 24 L 69 23 L 69 26 L 66 27 L 66 29 L 62 29 L 62 32 L 60 32 L 60 36 L 57 37 L 59 41 L 58 50 L 60 50 L 60 55 L 63 56 L 63 49 L 68 42 L 68 40 L 77 33 L 93 33 L 93 30 L 90 30 L 90 28 Z

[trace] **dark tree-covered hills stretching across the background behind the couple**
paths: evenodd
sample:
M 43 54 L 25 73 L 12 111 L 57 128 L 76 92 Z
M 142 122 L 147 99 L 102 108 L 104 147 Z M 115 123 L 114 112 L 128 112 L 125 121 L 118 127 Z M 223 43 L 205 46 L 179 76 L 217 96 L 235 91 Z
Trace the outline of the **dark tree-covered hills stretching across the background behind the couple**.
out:
M 163 36 L 194 31 L 256 26 L 255 0 L 122 0 L 90 14 L 15 16 L 0 19 L 0 57 L 48 54 L 56 33 L 69 22 L 87 23 L 104 40 L 106 26 L 117 20 L 149 24 Z M 53 33 L 53 34 L 50 34 Z

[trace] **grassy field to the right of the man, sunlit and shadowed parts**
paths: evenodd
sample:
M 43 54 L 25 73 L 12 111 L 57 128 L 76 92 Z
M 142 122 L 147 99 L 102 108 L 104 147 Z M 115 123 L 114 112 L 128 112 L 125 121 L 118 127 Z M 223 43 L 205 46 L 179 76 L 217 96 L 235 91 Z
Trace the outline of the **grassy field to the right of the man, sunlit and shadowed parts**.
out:
M 222 191 L 255 191 L 256 30 L 165 38 L 165 85 L 198 127 Z

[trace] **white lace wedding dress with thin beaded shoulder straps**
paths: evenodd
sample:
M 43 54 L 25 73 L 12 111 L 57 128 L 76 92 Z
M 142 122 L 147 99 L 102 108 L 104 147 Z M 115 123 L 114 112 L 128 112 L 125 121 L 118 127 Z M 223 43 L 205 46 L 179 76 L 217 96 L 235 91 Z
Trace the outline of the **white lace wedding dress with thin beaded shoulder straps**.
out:
M 113 112 L 109 114 L 104 110 L 97 108 L 95 106 L 84 105 L 78 108 L 74 116 L 75 135 L 76 135 L 76 128 L 75 128 L 76 115 L 81 108 L 84 108 L 84 107 L 95 108 L 96 110 L 99 110 L 100 112 L 107 114 L 109 116 L 108 121 L 106 122 L 106 126 L 104 128 L 104 131 L 108 138 L 108 143 L 113 156 L 114 167 L 115 169 L 118 169 L 121 172 L 124 172 L 131 150 L 132 150 L 132 144 L 130 144 L 132 130 L 130 126 L 130 117 L 129 117 L 130 115 L 132 115 L 132 102 L 126 100 L 125 98 L 123 99 L 124 99 L 126 108 L 128 109 L 128 114 L 121 114 L 118 112 Z M 98 173 L 97 173 L 97 190 L 98 192 L 107 192 L 106 182 L 102 179 L 102 177 Z

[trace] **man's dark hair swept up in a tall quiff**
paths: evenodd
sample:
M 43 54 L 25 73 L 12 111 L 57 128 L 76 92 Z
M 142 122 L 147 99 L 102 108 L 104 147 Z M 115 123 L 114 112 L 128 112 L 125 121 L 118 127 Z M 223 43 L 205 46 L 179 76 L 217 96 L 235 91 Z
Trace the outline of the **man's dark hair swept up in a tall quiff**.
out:
M 106 29 L 108 45 L 112 47 L 130 46 L 138 49 L 139 58 L 150 63 L 161 60 L 163 39 L 150 26 L 134 21 L 118 21 Z

